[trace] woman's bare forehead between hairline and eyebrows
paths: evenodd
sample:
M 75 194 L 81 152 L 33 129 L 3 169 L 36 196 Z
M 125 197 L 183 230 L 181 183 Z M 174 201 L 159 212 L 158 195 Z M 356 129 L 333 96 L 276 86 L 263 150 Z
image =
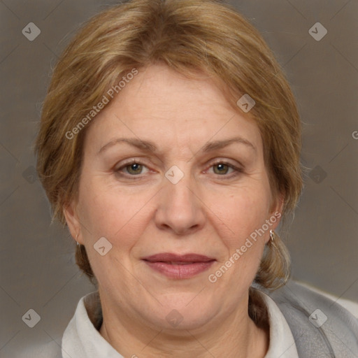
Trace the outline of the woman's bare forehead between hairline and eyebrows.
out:
M 185 78 L 162 64 L 139 71 L 88 128 L 99 145 L 115 136 L 155 141 L 157 146 L 203 145 L 240 135 L 260 149 L 261 136 L 251 118 L 234 110 L 213 79 L 198 73 Z M 86 140 L 88 142 L 88 140 Z

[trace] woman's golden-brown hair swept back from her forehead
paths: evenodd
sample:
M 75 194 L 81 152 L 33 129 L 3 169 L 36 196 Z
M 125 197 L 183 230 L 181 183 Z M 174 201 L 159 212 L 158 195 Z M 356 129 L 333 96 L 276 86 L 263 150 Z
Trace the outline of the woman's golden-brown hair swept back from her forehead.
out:
M 292 212 L 302 189 L 301 121 L 283 70 L 259 31 L 220 1 L 132 0 L 85 23 L 53 71 L 35 148 L 52 220 L 65 225 L 63 208 L 78 199 L 83 141 L 90 126 L 86 115 L 89 119 L 93 106 L 126 73 L 157 62 L 187 78 L 205 73 L 238 113 L 255 120 L 273 199 L 284 198 L 282 218 Z M 249 113 L 237 105 L 243 94 L 255 100 Z M 75 131 L 81 120 L 82 130 Z M 276 289 L 289 278 L 289 254 L 278 236 L 266 248 L 255 282 Z M 76 262 L 94 283 L 84 245 L 76 250 Z

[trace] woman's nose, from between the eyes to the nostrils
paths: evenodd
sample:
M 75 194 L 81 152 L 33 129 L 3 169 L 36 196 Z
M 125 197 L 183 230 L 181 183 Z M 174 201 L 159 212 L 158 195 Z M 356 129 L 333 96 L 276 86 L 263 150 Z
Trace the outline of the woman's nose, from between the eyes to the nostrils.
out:
M 155 224 L 159 229 L 176 235 L 189 235 L 200 230 L 206 220 L 194 178 L 189 175 L 173 184 L 164 177 L 164 187 L 159 192 Z

